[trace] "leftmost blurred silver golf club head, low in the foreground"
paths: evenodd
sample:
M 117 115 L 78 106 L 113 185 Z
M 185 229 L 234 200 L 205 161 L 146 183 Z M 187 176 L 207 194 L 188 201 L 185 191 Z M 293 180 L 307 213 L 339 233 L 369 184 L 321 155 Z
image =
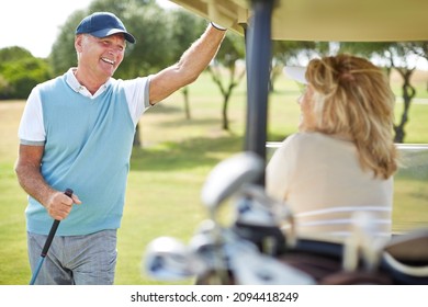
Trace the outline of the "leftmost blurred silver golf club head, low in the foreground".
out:
M 189 248 L 174 238 L 159 237 L 146 248 L 145 273 L 156 280 L 184 280 L 201 272 L 202 266 Z

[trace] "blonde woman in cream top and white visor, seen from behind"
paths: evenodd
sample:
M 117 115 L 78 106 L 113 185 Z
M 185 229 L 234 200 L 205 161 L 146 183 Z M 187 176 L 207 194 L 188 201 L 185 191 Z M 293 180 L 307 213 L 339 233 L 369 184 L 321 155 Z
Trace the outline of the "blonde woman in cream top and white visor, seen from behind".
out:
M 285 68 L 305 84 L 299 133 L 267 167 L 267 191 L 295 214 L 300 236 L 349 236 L 357 212 L 373 217 L 373 234 L 391 236 L 394 94 L 367 59 L 338 55 Z

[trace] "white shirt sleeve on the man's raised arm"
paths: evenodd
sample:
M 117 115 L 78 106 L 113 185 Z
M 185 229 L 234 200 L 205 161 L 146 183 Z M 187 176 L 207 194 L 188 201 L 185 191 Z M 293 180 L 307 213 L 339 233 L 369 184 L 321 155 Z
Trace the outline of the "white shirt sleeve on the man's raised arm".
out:
M 131 117 L 134 125 L 137 125 L 143 113 L 151 106 L 149 102 L 150 77 L 125 80 L 123 84 Z

